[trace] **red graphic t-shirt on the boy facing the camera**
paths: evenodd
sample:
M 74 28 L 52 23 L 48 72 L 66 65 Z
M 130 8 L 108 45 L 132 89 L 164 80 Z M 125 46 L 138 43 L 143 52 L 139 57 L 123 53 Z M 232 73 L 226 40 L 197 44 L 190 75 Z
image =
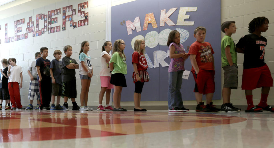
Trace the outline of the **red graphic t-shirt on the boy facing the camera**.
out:
M 205 70 L 214 70 L 213 54 L 214 51 L 210 43 L 200 43 L 198 41 L 192 43 L 188 52 L 188 55 L 196 55 L 196 61 L 199 69 Z M 194 71 L 193 66 L 191 71 Z

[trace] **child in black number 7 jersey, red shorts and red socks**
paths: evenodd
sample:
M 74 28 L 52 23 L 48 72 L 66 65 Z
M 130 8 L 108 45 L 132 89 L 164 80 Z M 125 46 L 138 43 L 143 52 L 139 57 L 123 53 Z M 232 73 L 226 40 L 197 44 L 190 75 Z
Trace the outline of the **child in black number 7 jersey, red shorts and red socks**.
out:
M 243 36 L 236 44 L 237 49 L 244 52 L 242 89 L 245 90 L 248 105 L 246 112 L 261 112 L 262 109 L 274 112 L 274 108 L 266 103 L 273 79 L 264 59 L 267 39 L 261 36 L 261 32 L 267 31 L 268 23 L 266 17 L 253 19 L 248 25 L 250 34 Z M 252 90 L 259 87 L 262 88 L 261 101 L 255 107 Z

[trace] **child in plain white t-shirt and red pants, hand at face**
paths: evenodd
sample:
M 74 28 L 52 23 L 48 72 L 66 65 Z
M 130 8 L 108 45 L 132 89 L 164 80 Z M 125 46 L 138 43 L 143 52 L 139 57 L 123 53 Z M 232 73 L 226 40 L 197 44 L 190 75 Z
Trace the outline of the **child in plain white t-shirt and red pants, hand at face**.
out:
M 23 75 L 22 75 L 22 67 L 16 65 L 15 58 L 9 58 L 9 69 L 7 71 L 9 80 L 8 80 L 8 88 L 9 95 L 12 103 L 11 110 L 24 110 L 21 104 L 21 96 L 20 96 L 20 88 L 23 86 Z M 12 66 L 12 67 L 11 67 Z

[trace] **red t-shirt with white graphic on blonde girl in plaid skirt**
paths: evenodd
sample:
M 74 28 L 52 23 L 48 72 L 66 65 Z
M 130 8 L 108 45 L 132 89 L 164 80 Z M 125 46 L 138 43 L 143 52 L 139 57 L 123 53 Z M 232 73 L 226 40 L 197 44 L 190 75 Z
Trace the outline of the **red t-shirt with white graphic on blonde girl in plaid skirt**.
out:
M 134 51 L 132 53 L 132 64 L 137 63 L 137 70 L 146 70 L 148 69 L 148 62 L 146 61 L 146 57 L 143 53 L 138 53 L 137 51 Z

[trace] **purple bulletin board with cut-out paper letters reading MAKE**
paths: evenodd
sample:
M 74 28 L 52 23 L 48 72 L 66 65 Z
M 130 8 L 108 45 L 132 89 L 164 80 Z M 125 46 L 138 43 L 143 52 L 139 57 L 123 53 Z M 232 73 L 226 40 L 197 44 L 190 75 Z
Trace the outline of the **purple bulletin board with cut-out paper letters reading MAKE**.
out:
M 166 12 L 162 12 L 164 15 L 161 17 L 161 10 L 164 9 Z M 174 12 L 168 16 L 168 12 L 172 11 Z M 146 14 L 149 13 L 153 13 L 157 27 L 155 23 L 153 23 L 153 19 L 150 18 L 148 20 L 152 21 L 152 23 L 148 23 L 146 30 L 144 29 L 144 22 Z M 166 19 L 164 26 L 163 23 L 160 23 L 160 19 L 164 18 L 165 15 L 174 23 L 173 25 L 168 21 L 169 19 Z M 138 18 L 134 22 L 136 17 L 139 17 L 140 27 L 138 27 Z M 133 27 L 137 26 L 134 30 L 127 29 L 126 24 L 130 24 L 130 22 L 135 24 Z M 124 52 L 127 57 L 126 64 L 128 74 L 125 75 L 127 87 L 124 87 L 122 90 L 121 101 L 133 101 L 135 84 L 132 80 L 133 65 L 131 60 L 134 50 L 132 49 L 131 42 L 134 37 L 142 35 L 145 38 L 146 58 L 147 61 L 150 59 L 152 62 L 150 68 L 147 70 L 150 75 L 150 81 L 144 84 L 142 101 L 167 101 L 168 65 L 170 63 L 170 58 L 168 57 L 168 46 L 166 45 L 165 40 L 167 40 L 170 30 L 179 28 L 177 30 L 180 30 L 179 32 L 181 33 L 181 44 L 184 46 L 185 51 L 188 52 L 188 46 L 196 41 L 193 34 L 194 29 L 198 26 L 203 26 L 207 29 L 205 41 L 212 45 L 215 52 L 213 54 L 215 60 L 215 93 L 213 99 L 221 99 L 220 24 L 220 0 L 137 0 L 111 7 L 112 44 L 117 39 L 123 39 L 126 44 Z M 132 25 L 128 25 L 128 28 L 129 27 L 132 27 Z M 130 30 L 132 33 L 130 33 Z M 164 60 L 161 61 L 158 59 L 159 57 L 160 59 L 162 57 Z M 154 61 L 160 61 L 160 63 L 155 63 Z M 188 58 L 185 61 L 185 69 L 191 71 L 191 67 L 190 58 Z M 195 100 L 193 92 L 194 86 L 194 78 L 192 73 L 190 73 L 188 79 L 183 79 L 182 81 L 181 92 L 183 100 Z M 203 99 L 205 98 L 206 97 L 203 96 Z

